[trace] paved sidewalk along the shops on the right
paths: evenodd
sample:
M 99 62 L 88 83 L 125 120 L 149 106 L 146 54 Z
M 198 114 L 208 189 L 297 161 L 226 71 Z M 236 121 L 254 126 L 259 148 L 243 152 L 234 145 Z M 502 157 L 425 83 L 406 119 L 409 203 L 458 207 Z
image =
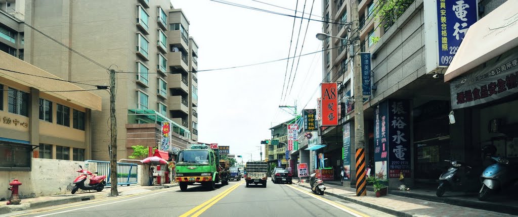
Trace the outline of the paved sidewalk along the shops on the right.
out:
M 310 189 L 306 182 L 297 185 Z M 513 216 L 391 194 L 376 197 L 371 191 L 367 196 L 357 197 L 355 189 L 329 184 L 326 184 L 325 194 L 396 216 Z

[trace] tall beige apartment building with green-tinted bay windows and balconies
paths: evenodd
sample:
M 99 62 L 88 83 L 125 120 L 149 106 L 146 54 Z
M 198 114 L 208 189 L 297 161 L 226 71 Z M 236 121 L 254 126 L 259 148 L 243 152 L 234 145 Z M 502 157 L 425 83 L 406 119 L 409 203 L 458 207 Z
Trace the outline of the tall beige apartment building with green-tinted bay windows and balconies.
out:
M 117 73 L 118 158 L 157 147 L 171 121 L 172 147 L 197 141 L 198 46 L 189 21 L 167 0 L 25 2 L 25 22 Z M 26 28 L 25 60 L 63 79 L 108 85 L 107 70 Z M 195 62 L 196 61 L 196 62 Z M 92 159 L 107 160 L 109 95 L 93 112 Z

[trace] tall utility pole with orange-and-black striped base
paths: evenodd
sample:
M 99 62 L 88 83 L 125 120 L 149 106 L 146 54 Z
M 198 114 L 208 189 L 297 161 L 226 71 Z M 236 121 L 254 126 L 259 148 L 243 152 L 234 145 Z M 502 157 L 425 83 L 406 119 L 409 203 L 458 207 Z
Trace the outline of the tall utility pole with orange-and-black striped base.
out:
M 356 149 L 356 196 L 366 196 L 365 189 L 365 127 L 363 120 L 363 89 L 361 58 L 359 55 L 358 1 L 350 1 L 353 32 L 353 81 L 354 81 L 354 147 Z

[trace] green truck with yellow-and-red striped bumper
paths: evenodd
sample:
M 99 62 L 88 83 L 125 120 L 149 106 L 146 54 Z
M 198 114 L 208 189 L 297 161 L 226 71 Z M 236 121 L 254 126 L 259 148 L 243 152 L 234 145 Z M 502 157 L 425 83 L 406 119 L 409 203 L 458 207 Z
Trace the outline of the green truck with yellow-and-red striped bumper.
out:
M 180 190 L 185 191 L 188 185 L 194 183 L 200 183 L 209 190 L 214 190 L 218 183 L 227 185 L 230 165 L 228 161 L 220 159 L 219 153 L 218 149 L 198 144 L 179 151 L 175 169 Z

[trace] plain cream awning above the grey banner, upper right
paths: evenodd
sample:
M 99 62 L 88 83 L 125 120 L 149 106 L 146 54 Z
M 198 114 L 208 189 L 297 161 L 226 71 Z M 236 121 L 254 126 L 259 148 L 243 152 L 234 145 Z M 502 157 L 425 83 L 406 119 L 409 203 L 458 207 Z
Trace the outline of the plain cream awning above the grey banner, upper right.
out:
M 507 1 L 469 27 L 444 82 L 518 46 L 518 4 Z

